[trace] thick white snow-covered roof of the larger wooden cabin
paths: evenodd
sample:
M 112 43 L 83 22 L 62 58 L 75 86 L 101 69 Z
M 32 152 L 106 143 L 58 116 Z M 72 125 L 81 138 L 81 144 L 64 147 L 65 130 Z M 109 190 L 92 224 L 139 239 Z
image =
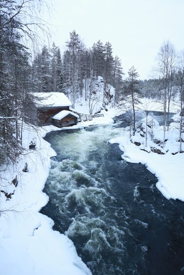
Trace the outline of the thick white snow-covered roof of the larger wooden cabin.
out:
M 63 92 L 33 92 L 35 104 L 37 107 L 66 107 L 72 106 L 70 100 Z

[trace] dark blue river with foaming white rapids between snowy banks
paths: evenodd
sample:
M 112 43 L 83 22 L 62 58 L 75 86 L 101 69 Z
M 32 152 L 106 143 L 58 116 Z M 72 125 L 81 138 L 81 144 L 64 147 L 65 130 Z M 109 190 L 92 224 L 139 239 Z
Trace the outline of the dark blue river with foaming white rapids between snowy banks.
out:
M 144 165 L 122 160 L 108 143 L 122 134 L 117 126 L 49 133 L 57 157 L 41 212 L 72 239 L 93 275 L 183 274 L 184 203 L 166 200 Z

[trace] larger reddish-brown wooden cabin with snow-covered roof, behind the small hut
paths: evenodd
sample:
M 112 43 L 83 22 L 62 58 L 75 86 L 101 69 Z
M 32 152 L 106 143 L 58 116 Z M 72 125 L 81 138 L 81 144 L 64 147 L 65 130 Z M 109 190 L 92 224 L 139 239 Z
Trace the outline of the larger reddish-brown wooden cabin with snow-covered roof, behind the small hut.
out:
M 52 119 L 62 110 L 69 111 L 72 103 L 62 92 L 34 92 L 34 106 L 30 106 L 31 117 L 40 126 L 51 125 Z

